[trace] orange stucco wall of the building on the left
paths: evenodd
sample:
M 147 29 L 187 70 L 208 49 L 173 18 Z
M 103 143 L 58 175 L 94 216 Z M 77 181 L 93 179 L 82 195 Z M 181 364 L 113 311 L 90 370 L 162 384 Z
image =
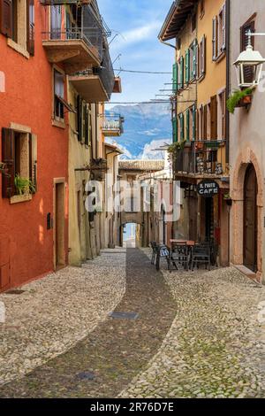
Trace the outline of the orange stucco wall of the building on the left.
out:
M 54 215 L 54 179 L 64 178 L 67 184 L 68 129 L 53 127 L 51 122 L 52 67 L 42 48 L 41 34 L 44 9 L 35 2 L 34 57 L 27 59 L 11 49 L 0 34 L 0 71 L 5 74 L 5 92 L 0 92 L 0 128 L 10 127 L 11 122 L 31 127 L 37 135 L 38 154 L 38 190 L 32 201 L 10 204 L 0 195 L 0 266 L 9 262 L 12 287 L 53 270 L 54 233 L 47 230 L 47 214 Z M 65 191 L 67 263 L 67 185 Z

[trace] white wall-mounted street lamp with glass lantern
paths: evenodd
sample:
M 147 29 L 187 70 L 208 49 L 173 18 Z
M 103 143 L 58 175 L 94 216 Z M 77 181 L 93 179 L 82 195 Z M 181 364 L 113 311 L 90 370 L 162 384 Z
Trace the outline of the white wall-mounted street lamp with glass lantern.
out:
M 265 34 L 248 32 L 247 35 L 248 45 L 246 46 L 246 50 L 240 53 L 239 58 L 233 64 L 238 70 L 240 89 L 254 88 L 259 85 L 262 66 L 265 62 L 265 58 L 262 58 L 261 53 L 258 50 L 254 50 L 251 44 L 252 36 L 265 36 Z

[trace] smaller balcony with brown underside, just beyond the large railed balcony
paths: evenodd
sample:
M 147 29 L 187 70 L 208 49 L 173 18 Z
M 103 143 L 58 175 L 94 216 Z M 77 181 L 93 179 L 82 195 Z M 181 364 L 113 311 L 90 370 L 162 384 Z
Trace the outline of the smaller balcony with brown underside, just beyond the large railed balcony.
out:
M 109 101 L 114 86 L 114 72 L 108 46 L 103 52 L 101 67 L 90 67 L 86 71 L 75 73 L 69 77 L 69 81 L 87 103 Z

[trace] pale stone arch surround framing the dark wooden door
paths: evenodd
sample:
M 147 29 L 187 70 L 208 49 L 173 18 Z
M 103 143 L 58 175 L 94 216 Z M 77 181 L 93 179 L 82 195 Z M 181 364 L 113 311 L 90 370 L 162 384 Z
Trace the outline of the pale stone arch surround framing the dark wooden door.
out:
M 250 147 L 239 153 L 235 168 L 232 173 L 231 198 L 232 205 L 232 263 L 242 265 L 244 261 L 244 185 L 247 166 L 252 164 L 257 177 L 257 267 L 258 276 L 262 274 L 262 210 L 263 210 L 263 180 L 261 166 L 254 150 Z

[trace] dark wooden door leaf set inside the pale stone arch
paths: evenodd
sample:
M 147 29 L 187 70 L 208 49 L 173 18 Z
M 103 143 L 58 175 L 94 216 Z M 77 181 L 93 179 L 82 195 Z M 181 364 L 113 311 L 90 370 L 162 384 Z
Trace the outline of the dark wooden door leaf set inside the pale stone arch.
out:
M 257 192 L 254 166 L 246 169 L 244 184 L 244 266 L 257 272 Z

